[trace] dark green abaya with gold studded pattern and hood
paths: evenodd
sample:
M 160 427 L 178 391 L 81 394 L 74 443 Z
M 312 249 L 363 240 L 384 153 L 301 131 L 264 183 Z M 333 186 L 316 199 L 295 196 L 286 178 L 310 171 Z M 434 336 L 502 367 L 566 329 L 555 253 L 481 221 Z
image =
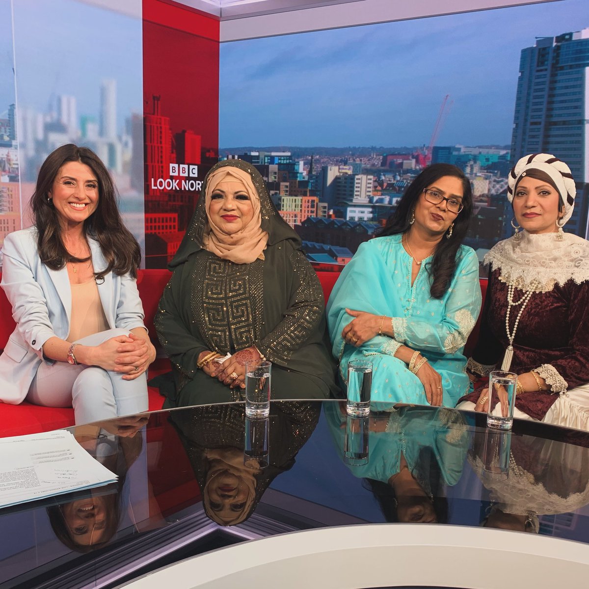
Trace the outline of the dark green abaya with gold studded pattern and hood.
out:
M 335 365 L 326 346 L 325 301 L 315 270 L 256 168 L 242 160 L 221 161 L 207 177 L 222 166 L 252 177 L 262 229 L 269 234 L 264 260 L 236 264 L 203 249 L 207 216 L 200 198 L 170 264 L 173 276 L 155 317 L 173 365 L 174 386 L 161 386 L 168 398 L 164 406 L 239 400 L 241 389 L 230 389 L 197 368 L 198 355 L 205 350 L 233 354 L 253 345 L 273 363 L 272 398 L 326 398 L 337 390 Z

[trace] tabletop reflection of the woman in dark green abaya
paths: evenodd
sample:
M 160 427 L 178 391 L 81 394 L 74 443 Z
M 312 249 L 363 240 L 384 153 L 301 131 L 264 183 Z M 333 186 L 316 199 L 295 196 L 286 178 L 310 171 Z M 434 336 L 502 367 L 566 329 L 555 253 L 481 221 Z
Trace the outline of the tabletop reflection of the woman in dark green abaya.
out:
M 252 515 L 268 485 L 292 468 L 319 419 L 317 403 L 274 404 L 268 418 L 266 468 L 244 464 L 244 405 L 209 405 L 170 414 L 203 495 L 207 517 L 236 525 Z M 254 463 L 254 464 L 252 464 Z

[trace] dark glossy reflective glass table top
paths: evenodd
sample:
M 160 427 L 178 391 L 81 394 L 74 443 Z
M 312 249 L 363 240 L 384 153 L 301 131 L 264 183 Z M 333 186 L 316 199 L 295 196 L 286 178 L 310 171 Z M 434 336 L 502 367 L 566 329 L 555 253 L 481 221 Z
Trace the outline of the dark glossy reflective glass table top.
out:
M 589 543 L 589 434 L 456 409 L 273 401 L 71 428 L 116 484 L 0 509 L 0 587 L 117 587 L 244 540 L 422 522 Z

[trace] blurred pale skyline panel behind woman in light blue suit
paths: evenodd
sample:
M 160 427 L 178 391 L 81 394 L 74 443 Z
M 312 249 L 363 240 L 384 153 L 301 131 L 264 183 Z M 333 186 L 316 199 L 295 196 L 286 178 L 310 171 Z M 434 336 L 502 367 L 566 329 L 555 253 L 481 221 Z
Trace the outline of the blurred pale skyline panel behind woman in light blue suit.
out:
M 104 161 L 125 223 L 143 247 L 143 132 L 133 131 L 134 117 L 143 115 L 141 0 L 126 8 L 138 16 L 76 0 L 0 0 L 7 25 L 0 38 L 0 243 L 32 223 L 28 203 L 41 163 L 75 143 Z

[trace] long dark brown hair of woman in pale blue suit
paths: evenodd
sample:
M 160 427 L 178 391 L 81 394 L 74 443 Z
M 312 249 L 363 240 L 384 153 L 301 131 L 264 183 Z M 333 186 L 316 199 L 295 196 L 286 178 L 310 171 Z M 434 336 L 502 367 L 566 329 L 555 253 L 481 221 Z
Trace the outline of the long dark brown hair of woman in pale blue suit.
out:
M 31 197 L 31 210 L 37 227 L 37 247 L 41 262 L 52 270 L 61 270 L 67 262 L 84 260 L 70 256 L 61 238 L 59 217 L 51 199 L 48 198 L 59 169 L 68 161 L 79 161 L 88 166 L 98 180 L 98 204 L 94 213 L 84 221 L 84 236 L 97 240 L 107 267 L 95 273 L 102 279 L 109 272 L 121 276 L 130 273 L 137 277 L 137 268 L 141 262 L 141 250 L 133 234 L 123 224 L 118 211 L 117 188 L 107 168 L 98 155 L 87 147 L 78 147 L 73 143 L 61 145 L 52 151 L 43 162 L 37 186 Z

